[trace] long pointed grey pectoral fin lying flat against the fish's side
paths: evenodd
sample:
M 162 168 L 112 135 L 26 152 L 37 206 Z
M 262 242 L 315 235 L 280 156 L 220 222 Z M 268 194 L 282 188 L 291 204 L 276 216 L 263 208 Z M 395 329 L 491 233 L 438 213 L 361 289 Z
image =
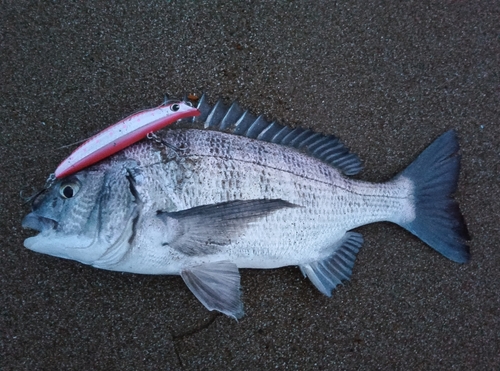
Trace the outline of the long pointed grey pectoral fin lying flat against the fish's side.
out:
M 199 256 L 216 253 L 251 222 L 286 207 L 296 205 L 280 199 L 236 200 L 177 212 L 159 211 L 158 217 L 167 227 L 165 245 L 189 256 Z

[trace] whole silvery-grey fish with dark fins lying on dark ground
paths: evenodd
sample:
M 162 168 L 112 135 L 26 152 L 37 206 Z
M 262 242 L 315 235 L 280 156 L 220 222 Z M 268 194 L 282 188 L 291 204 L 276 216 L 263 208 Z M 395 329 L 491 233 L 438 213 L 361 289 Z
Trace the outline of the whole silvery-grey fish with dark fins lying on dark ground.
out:
M 57 179 L 32 200 L 24 246 L 110 271 L 180 275 L 208 309 L 244 315 L 240 269 L 298 266 L 322 294 L 351 278 L 363 236 L 381 221 L 466 263 L 453 198 L 455 130 L 383 183 L 353 178 L 359 157 L 333 135 L 255 116 L 206 95 L 200 115 Z

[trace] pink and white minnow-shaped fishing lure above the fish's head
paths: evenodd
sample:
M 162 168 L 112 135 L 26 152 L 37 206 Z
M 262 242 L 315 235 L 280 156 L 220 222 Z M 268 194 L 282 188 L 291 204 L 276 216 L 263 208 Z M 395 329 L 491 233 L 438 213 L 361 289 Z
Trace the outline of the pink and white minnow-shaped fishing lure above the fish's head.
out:
M 137 112 L 94 135 L 78 147 L 55 171 L 63 178 L 111 156 L 177 120 L 199 116 L 187 102 L 166 102 L 157 108 Z

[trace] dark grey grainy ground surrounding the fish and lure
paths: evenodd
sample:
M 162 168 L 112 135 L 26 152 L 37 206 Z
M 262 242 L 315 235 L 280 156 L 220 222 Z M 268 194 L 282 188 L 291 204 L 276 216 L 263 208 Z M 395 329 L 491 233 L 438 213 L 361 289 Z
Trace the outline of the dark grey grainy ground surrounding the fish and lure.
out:
M 0 369 L 500 369 L 500 2 L 6 1 L 0 12 Z M 459 265 L 390 224 L 331 298 L 242 271 L 246 316 L 179 277 L 31 252 L 29 195 L 74 147 L 165 93 L 334 133 L 383 181 L 444 131 L 473 240 Z

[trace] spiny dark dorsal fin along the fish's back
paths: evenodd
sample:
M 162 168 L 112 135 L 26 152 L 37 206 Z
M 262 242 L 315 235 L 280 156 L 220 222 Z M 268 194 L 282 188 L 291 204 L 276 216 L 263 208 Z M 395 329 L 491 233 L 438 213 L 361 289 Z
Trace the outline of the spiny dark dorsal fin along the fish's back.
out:
M 227 106 L 219 100 L 211 106 L 206 94 L 198 100 L 197 108 L 201 111 L 201 115 L 190 120 L 193 123 L 203 124 L 206 129 L 293 147 L 339 169 L 346 175 L 357 174 L 362 169 L 358 156 L 350 153 L 349 149 L 333 135 L 323 135 L 309 129 L 291 128 L 277 122 L 269 122 L 262 115 L 257 117 L 242 109 L 236 102 Z

